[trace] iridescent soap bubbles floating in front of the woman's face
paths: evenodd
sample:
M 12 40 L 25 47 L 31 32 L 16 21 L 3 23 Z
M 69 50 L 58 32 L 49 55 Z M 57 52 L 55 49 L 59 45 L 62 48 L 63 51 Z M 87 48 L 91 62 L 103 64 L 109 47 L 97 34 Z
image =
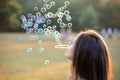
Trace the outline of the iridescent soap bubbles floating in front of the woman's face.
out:
M 71 28 L 72 23 L 70 11 L 66 8 L 69 6 L 70 2 L 65 1 L 62 7 L 59 7 L 55 13 L 48 12 L 51 7 L 55 6 L 55 2 L 51 0 L 43 0 L 44 4 L 41 9 L 37 6 L 34 7 L 36 11 L 35 14 L 28 13 L 27 16 L 21 15 L 22 25 L 21 27 L 26 30 L 27 34 L 36 33 L 36 34 L 45 34 L 46 36 L 54 36 L 55 41 L 58 44 L 60 43 L 61 34 L 56 29 L 59 28 Z M 65 17 L 66 20 L 63 20 Z M 53 19 L 59 24 L 59 26 L 53 24 Z M 63 22 L 66 21 L 67 23 Z M 38 40 L 38 43 L 41 43 L 42 40 L 39 40 L 38 35 L 31 35 L 30 40 Z M 63 46 L 60 46 L 63 47 Z M 57 47 L 55 47 L 57 48 Z M 44 48 L 39 48 L 39 52 L 42 53 Z M 32 48 L 28 47 L 27 52 L 31 53 Z M 49 60 L 45 61 L 45 64 L 49 63 Z

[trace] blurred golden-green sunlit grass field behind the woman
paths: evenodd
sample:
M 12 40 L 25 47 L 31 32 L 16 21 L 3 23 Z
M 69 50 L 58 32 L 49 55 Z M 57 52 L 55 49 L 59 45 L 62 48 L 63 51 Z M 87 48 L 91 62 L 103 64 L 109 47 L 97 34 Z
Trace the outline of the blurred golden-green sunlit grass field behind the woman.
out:
M 25 33 L 0 33 L 0 80 L 66 80 L 70 61 L 65 49 L 55 49 L 56 42 L 40 35 L 42 43 L 30 41 Z M 113 80 L 120 80 L 120 39 L 107 40 L 112 59 Z M 62 43 L 67 43 L 63 41 Z M 27 47 L 33 51 L 27 53 Z M 39 48 L 44 52 L 39 53 Z M 49 64 L 45 65 L 48 59 Z

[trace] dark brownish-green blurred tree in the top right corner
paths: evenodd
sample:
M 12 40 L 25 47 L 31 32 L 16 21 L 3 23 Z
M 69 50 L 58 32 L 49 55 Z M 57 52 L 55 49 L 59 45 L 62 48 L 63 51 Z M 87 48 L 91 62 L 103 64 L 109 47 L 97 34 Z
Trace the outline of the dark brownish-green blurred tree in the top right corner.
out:
M 120 28 L 120 0 L 110 0 L 101 8 L 99 15 L 100 24 L 102 26 Z

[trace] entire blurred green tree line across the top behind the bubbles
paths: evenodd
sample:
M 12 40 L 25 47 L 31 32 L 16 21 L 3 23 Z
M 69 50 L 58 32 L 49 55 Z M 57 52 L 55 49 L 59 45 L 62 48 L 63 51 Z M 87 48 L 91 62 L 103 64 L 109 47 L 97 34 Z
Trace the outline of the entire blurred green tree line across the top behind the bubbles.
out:
M 65 0 L 54 0 L 56 7 L 64 4 Z M 92 28 L 120 28 L 119 0 L 68 0 L 73 23 L 73 30 Z M 42 0 L 0 0 L 0 31 L 24 31 L 21 28 L 20 15 L 34 13 L 33 8 L 41 8 Z

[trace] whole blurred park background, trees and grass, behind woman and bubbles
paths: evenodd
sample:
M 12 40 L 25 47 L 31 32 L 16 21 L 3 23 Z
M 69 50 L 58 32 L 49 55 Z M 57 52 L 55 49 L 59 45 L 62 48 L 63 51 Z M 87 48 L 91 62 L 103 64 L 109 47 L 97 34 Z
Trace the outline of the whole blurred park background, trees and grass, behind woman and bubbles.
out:
M 55 1 L 49 11 L 55 13 L 66 0 Z M 120 80 L 120 0 L 68 0 L 73 27 L 68 31 L 57 26 L 68 44 L 80 30 L 95 29 L 110 49 L 112 80 Z M 21 15 L 35 14 L 42 0 L 0 0 L 0 80 L 66 80 L 71 62 L 58 49 L 53 37 L 27 34 L 21 27 Z M 57 24 L 54 22 L 52 24 Z M 38 39 L 30 40 L 37 36 Z M 42 49 L 42 52 L 40 51 Z

